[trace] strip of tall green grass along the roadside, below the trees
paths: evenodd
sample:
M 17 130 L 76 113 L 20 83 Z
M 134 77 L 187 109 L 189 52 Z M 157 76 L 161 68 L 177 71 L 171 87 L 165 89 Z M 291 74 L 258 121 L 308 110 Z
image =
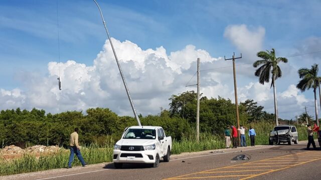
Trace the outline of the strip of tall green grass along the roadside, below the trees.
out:
M 268 144 L 268 136 L 273 124 L 270 123 L 256 123 L 245 124 L 246 127 L 252 125 L 256 131 L 256 144 Z M 299 140 L 306 140 L 306 127 L 297 127 Z M 247 144 L 250 144 L 247 136 Z M 91 144 L 81 149 L 81 153 L 87 164 L 94 164 L 100 162 L 110 162 L 112 160 L 112 147 L 111 141 L 105 143 L 103 146 Z M 173 139 L 173 154 L 182 152 L 193 152 L 201 150 L 219 149 L 224 148 L 224 136 L 213 135 L 211 133 L 201 133 L 200 142 L 196 142 L 195 134 L 183 135 L 182 140 L 177 141 Z M 67 167 L 69 159 L 69 150 L 60 150 L 56 154 L 47 154 L 36 157 L 32 154 L 24 154 L 21 158 L 5 160 L 0 156 L 0 175 L 16 174 L 23 172 L 47 170 L 54 168 Z M 79 160 L 75 157 L 72 164 L 81 165 Z

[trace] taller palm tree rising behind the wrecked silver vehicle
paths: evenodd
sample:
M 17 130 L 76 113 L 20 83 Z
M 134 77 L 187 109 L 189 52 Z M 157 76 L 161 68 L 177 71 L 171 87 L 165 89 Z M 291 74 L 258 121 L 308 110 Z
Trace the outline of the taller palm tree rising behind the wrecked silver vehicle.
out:
M 271 87 L 273 86 L 273 94 L 274 94 L 274 112 L 275 112 L 275 122 L 276 125 L 279 125 L 278 122 L 278 112 L 277 112 L 277 100 L 276 100 L 276 86 L 275 80 L 282 76 L 281 68 L 278 66 L 279 62 L 287 62 L 287 58 L 285 57 L 275 57 L 275 50 L 272 48 L 271 51 L 259 51 L 256 54 L 258 57 L 261 57 L 262 60 L 257 60 L 253 63 L 254 67 L 259 68 L 255 71 L 255 76 L 259 77 L 259 82 L 264 84 L 264 82 L 270 81 L 270 73 L 272 74 L 272 82 Z

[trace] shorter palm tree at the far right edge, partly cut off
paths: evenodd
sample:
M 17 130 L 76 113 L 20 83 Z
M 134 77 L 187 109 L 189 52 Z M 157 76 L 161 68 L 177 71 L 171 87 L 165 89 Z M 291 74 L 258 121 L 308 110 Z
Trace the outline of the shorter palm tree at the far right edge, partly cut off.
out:
M 302 78 L 298 84 L 296 84 L 296 87 L 301 90 L 301 92 L 304 92 L 306 89 L 313 88 L 314 92 L 314 107 L 315 107 L 315 120 L 316 125 L 319 125 L 319 121 L 317 118 L 317 101 L 316 101 L 316 88 L 319 83 L 319 78 L 317 76 L 317 71 L 319 70 L 318 64 L 311 65 L 311 69 L 308 68 L 300 68 L 298 69 L 297 73 L 299 74 L 299 77 Z

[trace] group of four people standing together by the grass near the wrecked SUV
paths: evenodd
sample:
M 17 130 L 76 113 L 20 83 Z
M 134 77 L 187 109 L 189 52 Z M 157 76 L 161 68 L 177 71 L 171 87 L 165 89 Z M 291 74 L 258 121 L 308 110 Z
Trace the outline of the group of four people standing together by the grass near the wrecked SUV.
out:
M 231 128 L 231 131 L 230 131 Z M 240 125 L 240 127 L 237 129 L 234 125 L 231 126 L 226 126 L 225 130 L 224 130 L 224 135 L 225 135 L 225 147 L 226 148 L 230 148 L 231 146 L 231 139 L 232 139 L 232 143 L 233 143 L 233 148 L 237 148 L 239 146 L 239 139 L 238 139 L 238 134 L 240 134 L 240 138 L 241 138 L 241 147 L 246 147 L 246 138 L 245 138 L 245 130 L 247 128 L 243 125 Z M 250 126 L 248 135 L 250 137 L 251 140 L 251 146 L 255 146 L 255 130 L 254 128 L 252 128 L 252 126 Z

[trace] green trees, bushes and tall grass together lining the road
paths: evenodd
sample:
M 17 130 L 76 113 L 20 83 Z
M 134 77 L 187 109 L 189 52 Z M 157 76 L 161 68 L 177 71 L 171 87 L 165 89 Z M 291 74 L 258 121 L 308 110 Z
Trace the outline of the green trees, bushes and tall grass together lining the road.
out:
M 170 109 L 157 115 L 141 116 L 143 125 L 162 126 L 173 137 L 173 154 L 224 148 L 223 131 L 226 125 L 236 124 L 235 105 L 230 99 L 201 98 L 200 142 L 196 142 L 196 96 L 194 91 L 172 95 Z M 240 103 L 240 122 L 255 128 L 256 144 L 268 144 L 274 126 L 274 114 L 251 99 Z M 279 119 L 280 123 L 290 121 Z M 15 144 L 22 148 L 35 144 L 59 145 L 58 152 L 36 156 L 25 153 L 20 158 L 6 159 L 0 152 L 0 175 L 39 171 L 67 166 L 69 135 L 79 127 L 81 151 L 88 164 L 110 162 L 116 140 L 126 126 L 136 125 L 134 118 L 118 116 L 108 108 L 90 108 L 86 114 L 68 111 L 46 114 L 44 110 L 8 109 L 0 111 L 0 142 L 2 147 Z M 298 126 L 299 140 L 306 139 L 306 127 Z M 249 144 L 249 138 L 247 138 Z M 1 146 L 0 146 L 1 147 Z M 81 165 L 76 159 L 74 165 Z

